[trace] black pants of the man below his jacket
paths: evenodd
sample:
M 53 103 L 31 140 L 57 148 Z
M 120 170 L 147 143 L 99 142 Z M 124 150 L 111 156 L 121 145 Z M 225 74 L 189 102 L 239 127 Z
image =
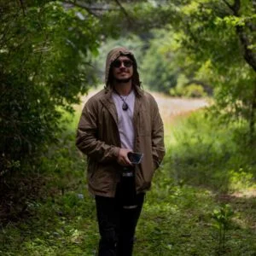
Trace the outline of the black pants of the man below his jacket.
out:
M 137 208 L 134 209 L 124 209 L 118 195 L 115 198 L 96 195 L 97 220 L 101 235 L 99 256 L 131 256 L 144 195 L 137 195 Z

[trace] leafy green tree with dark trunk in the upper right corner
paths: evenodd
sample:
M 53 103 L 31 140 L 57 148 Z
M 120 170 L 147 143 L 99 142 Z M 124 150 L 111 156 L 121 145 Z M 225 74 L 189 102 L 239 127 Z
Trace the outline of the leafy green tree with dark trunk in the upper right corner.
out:
M 231 3 L 232 2 L 232 3 Z M 255 129 L 255 2 L 197 0 L 179 6 L 180 49 L 199 68 L 208 63 L 207 76 L 216 87 L 216 107 L 227 117 L 247 120 Z M 216 109 L 216 108 L 215 108 Z

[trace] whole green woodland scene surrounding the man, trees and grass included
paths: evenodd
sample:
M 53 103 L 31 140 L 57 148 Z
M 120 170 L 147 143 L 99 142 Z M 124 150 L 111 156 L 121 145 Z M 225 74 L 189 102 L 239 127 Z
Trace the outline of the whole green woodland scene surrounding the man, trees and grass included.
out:
M 114 46 L 165 126 L 134 255 L 256 255 L 255 0 L 0 0 L 0 25 L 1 255 L 96 255 L 75 137 Z

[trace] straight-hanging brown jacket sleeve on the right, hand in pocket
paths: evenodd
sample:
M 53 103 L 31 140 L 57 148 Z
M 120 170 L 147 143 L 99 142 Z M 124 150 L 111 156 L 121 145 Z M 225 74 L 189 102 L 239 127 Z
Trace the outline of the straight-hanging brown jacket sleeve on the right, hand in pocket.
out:
M 160 117 L 159 108 L 155 100 L 153 100 L 153 115 L 152 115 L 152 154 L 154 160 L 154 170 L 160 166 L 163 160 L 166 149 L 164 143 L 164 125 Z

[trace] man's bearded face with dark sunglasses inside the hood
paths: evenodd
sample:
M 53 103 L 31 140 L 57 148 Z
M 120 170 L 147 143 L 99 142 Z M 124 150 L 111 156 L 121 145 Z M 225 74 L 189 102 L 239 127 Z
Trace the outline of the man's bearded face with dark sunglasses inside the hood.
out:
M 127 56 L 119 56 L 113 61 L 113 78 L 119 83 L 127 83 L 133 75 L 133 65 L 131 59 Z

